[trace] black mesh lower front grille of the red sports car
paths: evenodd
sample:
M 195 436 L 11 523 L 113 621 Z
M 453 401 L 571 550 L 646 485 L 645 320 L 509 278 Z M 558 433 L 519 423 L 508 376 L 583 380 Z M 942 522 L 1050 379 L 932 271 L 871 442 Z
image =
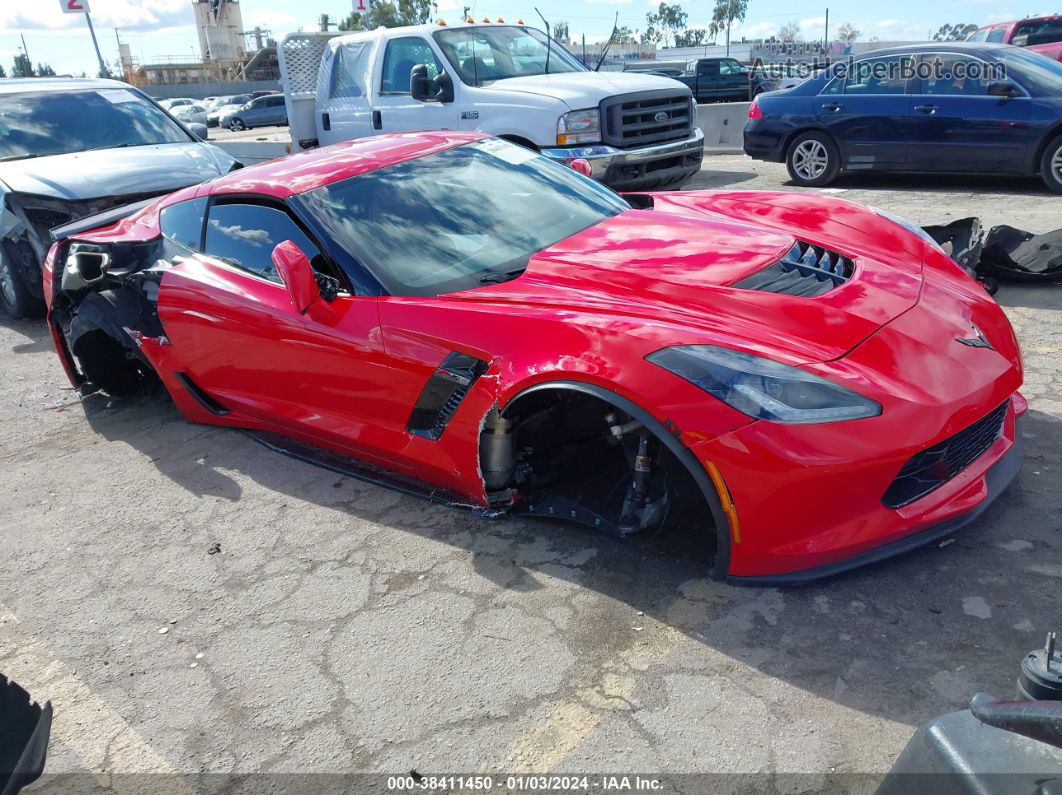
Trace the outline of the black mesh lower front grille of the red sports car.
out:
M 885 506 L 898 508 L 914 502 L 973 464 L 999 438 L 1009 405 L 1008 400 L 964 431 L 912 456 L 881 498 Z

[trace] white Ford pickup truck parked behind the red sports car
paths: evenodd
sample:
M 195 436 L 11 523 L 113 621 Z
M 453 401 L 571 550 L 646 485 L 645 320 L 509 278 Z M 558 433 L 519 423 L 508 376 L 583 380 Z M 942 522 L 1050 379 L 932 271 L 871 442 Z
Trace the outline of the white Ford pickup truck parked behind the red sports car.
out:
M 292 33 L 280 76 L 298 149 L 383 133 L 476 129 L 570 162 L 622 190 L 682 183 L 704 135 L 687 86 L 587 69 L 523 23 Z

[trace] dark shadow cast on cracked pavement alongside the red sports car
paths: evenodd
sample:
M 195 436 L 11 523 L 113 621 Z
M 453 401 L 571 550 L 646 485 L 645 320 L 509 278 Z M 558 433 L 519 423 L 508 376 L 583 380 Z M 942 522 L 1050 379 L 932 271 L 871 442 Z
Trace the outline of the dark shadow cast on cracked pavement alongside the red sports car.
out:
M 565 640 L 589 659 L 651 642 L 653 632 L 673 627 L 731 661 L 915 725 L 964 707 L 980 690 L 1010 695 L 1024 654 L 1042 642 L 1044 630 L 1058 628 L 1062 496 L 1052 484 L 1062 466 L 1062 421 L 1039 412 L 1024 422 L 1022 473 L 954 540 L 813 585 L 768 589 L 708 581 L 703 561 L 637 537 L 619 540 L 526 518 L 481 519 L 331 472 L 319 481 L 312 473 L 325 470 L 271 452 L 239 431 L 185 422 L 161 394 L 92 397 L 83 405 L 98 433 L 132 446 L 145 464 L 199 497 L 247 499 L 226 474 L 239 473 L 293 500 L 375 522 L 384 534 L 465 550 L 474 570 L 498 588 L 537 591 L 558 587 L 550 581 L 560 578 L 629 605 L 629 611 L 602 608 L 573 619 Z M 307 482 L 320 487 L 307 489 Z M 347 492 L 353 496 L 337 501 Z M 832 499 L 829 489 L 822 499 Z M 777 513 L 784 522 L 786 506 Z M 350 523 L 352 548 L 358 528 Z M 187 542 L 187 536 L 175 533 L 168 541 Z M 637 636 L 635 624 L 643 625 Z M 698 659 L 705 664 L 703 655 Z M 707 659 L 732 668 L 717 656 Z

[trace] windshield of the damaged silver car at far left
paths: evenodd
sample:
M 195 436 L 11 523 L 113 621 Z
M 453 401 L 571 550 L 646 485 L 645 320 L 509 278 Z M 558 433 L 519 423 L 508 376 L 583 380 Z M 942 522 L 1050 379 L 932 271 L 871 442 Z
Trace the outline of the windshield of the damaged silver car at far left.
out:
M 0 160 L 188 140 L 168 114 L 126 88 L 0 94 Z

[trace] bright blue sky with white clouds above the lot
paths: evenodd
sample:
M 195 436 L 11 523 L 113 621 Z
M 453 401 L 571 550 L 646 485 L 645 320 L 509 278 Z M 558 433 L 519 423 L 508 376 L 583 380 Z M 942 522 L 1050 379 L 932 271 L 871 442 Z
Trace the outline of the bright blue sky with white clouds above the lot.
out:
M 118 44 L 132 47 L 141 63 L 169 56 L 200 56 L 195 28 L 192 23 L 191 0 L 86 0 L 90 4 L 92 23 L 103 57 L 108 63 L 118 59 Z M 10 72 L 14 56 L 22 46 L 34 63 L 50 64 L 59 74 L 92 74 L 96 54 L 88 28 L 80 14 L 63 14 L 63 0 L 0 0 L 0 64 Z M 613 19 L 618 14 L 620 25 L 645 29 L 646 13 L 658 0 L 438 0 L 443 18 L 456 18 L 464 2 L 474 4 L 477 18 L 484 15 L 506 19 L 523 18 L 537 21 L 535 5 L 550 23 L 566 21 L 570 35 L 578 40 L 607 38 Z M 802 37 L 822 37 L 826 2 L 800 5 L 786 0 L 749 0 L 746 21 L 738 25 L 733 38 L 771 36 L 788 22 L 796 22 Z M 876 36 L 888 40 L 924 40 L 929 31 L 945 23 L 988 22 L 1015 19 L 1052 7 L 1033 4 L 1032 0 L 950 0 L 926 3 L 924 0 L 891 0 L 884 5 L 859 0 L 828 0 L 829 30 L 851 22 L 862 32 L 860 40 Z M 689 0 L 681 5 L 689 15 L 691 27 L 705 25 L 710 19 L 714 0 Z M 316 30 L 321 14 L 333 20 L 345 17 L 352 0 L 241 0 L 244 27 L 262 25 L 272 30 L 275 38 L 299 29 Z M 115 29 L 118 29 L 117 34 Z

